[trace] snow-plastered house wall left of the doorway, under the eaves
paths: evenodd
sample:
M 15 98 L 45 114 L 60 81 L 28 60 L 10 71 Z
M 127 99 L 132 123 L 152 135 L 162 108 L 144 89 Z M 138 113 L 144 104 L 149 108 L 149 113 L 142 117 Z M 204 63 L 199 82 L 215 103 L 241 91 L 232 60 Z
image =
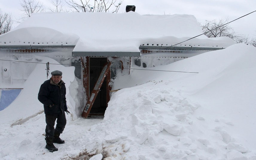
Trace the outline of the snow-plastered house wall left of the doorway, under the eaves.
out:
M 71 52 L 72 49 L 51 49 L 45 50 L 45 52 L 35 53 L 2 49 L 0 52 L 0 88 L 23 88 L 23 84 L 34 70 L 36 63 L 45 64 L 46 69 L 47 62 L 36 58 L 35 55 L 50 57 L 60 64 L 70 66 L 72 57 Z M 46 71 L 42 74 L 46 75 Z M 51 74 L 49 76 L 51 76 Z

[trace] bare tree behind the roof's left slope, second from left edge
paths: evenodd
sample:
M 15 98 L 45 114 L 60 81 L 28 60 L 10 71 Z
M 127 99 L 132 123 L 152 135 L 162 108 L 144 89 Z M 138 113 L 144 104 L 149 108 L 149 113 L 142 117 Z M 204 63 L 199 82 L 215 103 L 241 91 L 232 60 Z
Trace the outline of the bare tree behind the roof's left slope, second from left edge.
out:
M 22 0 L 21 1 L 22 11 L 24 11 L 22 20 L 29 18 L 32 13 L 42 12 L 44 11 L 44 6 L 42 3 L 36 0 Z

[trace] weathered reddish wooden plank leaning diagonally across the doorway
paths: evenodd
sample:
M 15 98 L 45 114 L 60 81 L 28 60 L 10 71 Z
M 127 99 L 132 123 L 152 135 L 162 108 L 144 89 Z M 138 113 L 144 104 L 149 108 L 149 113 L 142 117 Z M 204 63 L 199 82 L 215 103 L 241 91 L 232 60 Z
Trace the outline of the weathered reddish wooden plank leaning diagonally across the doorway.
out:
M 83 118 L 87 118 L 89 113 L 90 113 L 90 110 L 92 109 L 92 106 L 93 106 L 93 103 L 100 91 L 100 87 L 105 79 L 105 77 L 107 76 L 107 74 L 109 73 L 109 69 L 110 69 L 110 65 L 111 65 L 111 62 L 108 62 L 108 64 L 106 64 L 104 66 L 104 68 L 102 69 L 101 73 L 100 73 L 100 76 L 99 76 L 99 79 L 97 80 L 91 94 L 90 94 L 90 98 L 87 100 L 87 103 L 85 105 L 85 108 L 83 110 L 83 113 L 82 113 L 82 117 Z

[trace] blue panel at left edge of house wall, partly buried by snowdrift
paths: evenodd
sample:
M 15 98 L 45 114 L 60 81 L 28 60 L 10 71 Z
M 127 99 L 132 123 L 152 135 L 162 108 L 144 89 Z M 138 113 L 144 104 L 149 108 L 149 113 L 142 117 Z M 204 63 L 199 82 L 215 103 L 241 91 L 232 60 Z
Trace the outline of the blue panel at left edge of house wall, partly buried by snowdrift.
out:
M 0 111 L 8 107 L 19 95 L 21 89 L 0 89 Z

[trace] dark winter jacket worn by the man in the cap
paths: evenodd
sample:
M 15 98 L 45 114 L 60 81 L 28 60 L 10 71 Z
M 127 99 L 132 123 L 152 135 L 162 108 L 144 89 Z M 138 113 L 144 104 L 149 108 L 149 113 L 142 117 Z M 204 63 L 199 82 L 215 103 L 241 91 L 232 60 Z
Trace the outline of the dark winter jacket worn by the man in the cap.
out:
M 46 80 L 40 87 L 38 100 L 44 104 L 45 114 L 64 114 L 67 110 L 65 83 L 60 80 L 55 84 L 52 78 Z

